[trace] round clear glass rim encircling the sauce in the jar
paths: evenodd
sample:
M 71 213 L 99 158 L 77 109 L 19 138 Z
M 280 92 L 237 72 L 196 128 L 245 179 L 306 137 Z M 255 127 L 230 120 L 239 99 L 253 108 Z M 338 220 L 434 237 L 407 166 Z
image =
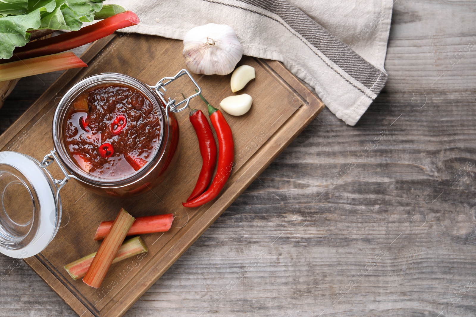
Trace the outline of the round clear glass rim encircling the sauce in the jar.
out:
M 135 89 L 138 89 L 142 94 L 144 94 L 152 103 L 152 106 L 159 115 L 160 129 L 158 144 L 149 161 L 137 172 L 124 176 L 122 178 L 113 179 L 101 178 L 91 175 L 81 169 L 76 163 L 74 163 L 68 153 L 66 144 L 64 142 L 64 136 L 62 135 L 64 134 L 63 130 L 65 118 L 74 98 L 79 96 L 84 90 L 88 89 L 89 87 L 107 83 L 131 86 Z M 68 170 L 74 174 L 74 178 L 92 185 L 120 186 L 121 184 L 127 183 L 131 180 L 136 181 L 142 177 L 145 177 L 148 171 L 150 170 L 150 167 L 157 163 L 158 156 L 161 157 L 163 155 L 163 150 L 166 146 L 166 144 L 164 144 L 164 135 L 169 133 L 169 125 L 166 120 L 166 110 L 161 105 L 161 102 L 157 98 L 156 93 L 150 88 L 150 86 L 128 75 L 119 73 L 100 73 L 80 80 L 74 86 L 69 88 L 65 95 L 61 97 L 60 103 L 58 104 L 53 117 L 53 143 L 57 153 L 59 154 L 60 160 L 66 165 Z

